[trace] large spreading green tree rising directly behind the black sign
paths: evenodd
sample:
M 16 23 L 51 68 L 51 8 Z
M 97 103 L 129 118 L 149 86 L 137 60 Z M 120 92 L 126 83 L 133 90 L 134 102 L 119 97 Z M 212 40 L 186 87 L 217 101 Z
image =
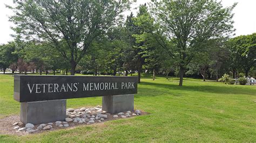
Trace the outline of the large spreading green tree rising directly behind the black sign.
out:
M 44 41 L 70 62 L 71 75 L 91 47 L 129 8 L 129 1 L 17 1 L 10 21 L 23 39 Z

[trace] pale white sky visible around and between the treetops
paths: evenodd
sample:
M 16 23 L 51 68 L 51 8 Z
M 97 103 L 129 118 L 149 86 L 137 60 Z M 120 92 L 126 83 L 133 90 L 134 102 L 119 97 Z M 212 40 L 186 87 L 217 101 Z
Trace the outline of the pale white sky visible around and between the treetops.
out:
M 131 11 L 136 13 L 136 9 L 140 4 L 150 2 L 151 0 L 137 0 L 136 3 L 131 5 Z M 8 16 L 12 15 L 12 11 L 5 8 L 5 4 L 12 4 L 12 0 L 0 0 L 0 44 L 6 44 L 8 41 L 13 40 L 10 34 L 14 34 L 10 26 L 13 24 L 8 22 Z M 248 35 L 256 32 L 256 1 L 255 0 L 223 0 L 224 7 L 231 6 L 237 2 L 237 6 L 233 10 L 234 28 L 236 29 L 235 36 Z M 130 11 L 124 12 L 125 15 L 129 15 Z

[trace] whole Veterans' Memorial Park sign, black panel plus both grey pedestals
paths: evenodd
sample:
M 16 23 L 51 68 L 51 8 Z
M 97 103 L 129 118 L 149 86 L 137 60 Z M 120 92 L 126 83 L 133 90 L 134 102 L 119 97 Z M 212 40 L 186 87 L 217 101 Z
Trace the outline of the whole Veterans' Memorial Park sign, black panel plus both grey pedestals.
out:
M 131 76 L 15 75 L 14 99 L 21 102 L 24 124 L 64 120 L 69 98 L 103 96 L 102 110 L 133 111 L 137 81 Z

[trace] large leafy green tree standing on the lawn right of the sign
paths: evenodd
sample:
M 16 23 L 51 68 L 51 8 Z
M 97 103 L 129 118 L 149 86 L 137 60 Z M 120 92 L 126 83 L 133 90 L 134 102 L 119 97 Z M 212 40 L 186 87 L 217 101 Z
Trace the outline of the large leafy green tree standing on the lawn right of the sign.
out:
M 216 1 L 162 0 L 154 4 L 153 10 L 161 30 L 176 43 L 172 56 L 179 66 L 179 85 L 182 86 L 188 63 L 204 49 L 205 41 L 233 31 L 232 10 L 235 4 L 228 8 L 223 8 Z

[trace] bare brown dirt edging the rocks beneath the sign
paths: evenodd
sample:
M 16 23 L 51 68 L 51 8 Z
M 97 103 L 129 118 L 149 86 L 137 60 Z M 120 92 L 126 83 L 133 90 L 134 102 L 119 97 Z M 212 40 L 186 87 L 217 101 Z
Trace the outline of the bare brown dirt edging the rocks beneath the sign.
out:
M 132 113 L 135 113 L 135 112 L 131 112 L 131 115 L 132 115 Z M 147 115 L 147 114 L 148 114 L 147 112 L 141 111 L 141 114 L 140 115 L 136 115 L 136 116 L 143 116 L 143 115 Z M 106 113 L 106 115 L 107 115 L 107 119 L 104 119 L 101 122 L 96 121 L 95 123 L 92 123 L 92 124 L 104 123 L 105 121 L 109 121 L 109 120 L 123 119 L 120 116 L 118 118 L 114 118 L 113 116 L 116 115 L 116 114 L 112 115 L 110 113 Z M 136 117 L 136 116 L 126 117 L 126 118 L 133 118 L 133 117 Z M 71 122 L 71 123 L 69 123 L 69 127 L 64 127 L 64 126 L 63 127 L 59 127 L 59 126 L 56 126 L 55 123 L 53 122 L 53 125 L 51 125 L 52 128 L 50 130 L 37 130 L 37 131 L 35 131 L 33 133 L 28 133 L 25 130 L 18 131 L 17 129 L 14 129 L 14 127 L 16 127 L 16 126 L 19 126 L 20 128 L 25 127 L 25 125 L 21 121 L 19 121 L 19 119 L 20 119 L 20 117 L 18 115 L 13 115 L 13 116 L 8 116 L 8 117 L 0 118 L 0 134 L 11 134 L 11 135 L 19 135 L 19 136 L 21 136 L 21 135 L 26 135 L 26 134 L 35 134 L 35 133 L 49 132 L 49 131 L 54 131 L 54 130 L 65 130 L 65 129 L 74 128 L 74 127 L 77 127 L 77 126 L 89 126 L 89 125 L 92 125 L 92 124 L 87 125 L 86 123 L 79 124 L 79 123 Z M 16 122 L 18 122 L 18 125 L 13 125 Z M 45 123 L 45 124 L 47 125 L 47 123 Z M 35 125 L 35 129 L 38 126 L 39 126 L 39 124 Z

